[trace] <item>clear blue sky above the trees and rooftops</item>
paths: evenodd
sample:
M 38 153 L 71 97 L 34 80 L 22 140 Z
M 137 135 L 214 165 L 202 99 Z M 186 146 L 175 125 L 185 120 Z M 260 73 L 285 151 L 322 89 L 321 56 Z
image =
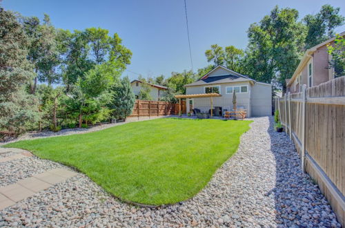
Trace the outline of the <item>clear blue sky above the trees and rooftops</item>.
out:
M 268 15 L 275 5 L 295 8 L 302 18 L 318 12 L 326 3 L 340 7 L 341 15 L 345 15 L 345 1 L 335 0 L 187 0 L 194 70 L 208 64 L 204 53 L 211 44 L 246 48 L 250 23 Z M 191 68 L 184 0 L 3 0 L 2 4 L 24 16 L 43 18 L 46 13 L 57 28 L 101 27 L 108 29 L 110 35 L 117 32 L 133 53 L 128 70 L 144 77 L 168 77 L 172 71 Z M 336 31 L 344 30 L 342 26 Z M 135 73 L 124 74 L 135 79 Z

